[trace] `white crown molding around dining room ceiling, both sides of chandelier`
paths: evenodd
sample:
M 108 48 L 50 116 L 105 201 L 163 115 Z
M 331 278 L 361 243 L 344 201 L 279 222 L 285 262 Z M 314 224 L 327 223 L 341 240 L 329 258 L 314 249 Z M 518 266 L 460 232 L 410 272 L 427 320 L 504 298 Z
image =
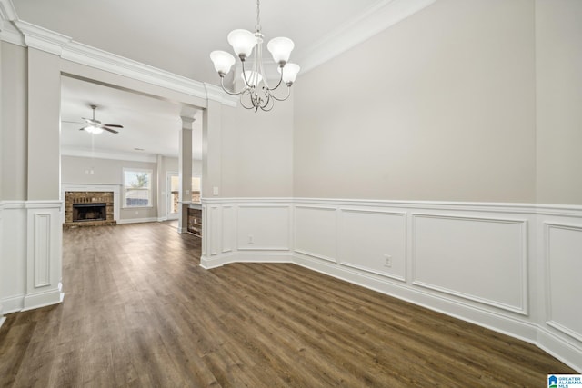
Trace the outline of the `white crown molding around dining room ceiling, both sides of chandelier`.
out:
M 433 4 L 437 0 L 378 0 L 360 15 L 330 34 L 296 52 L 296 63 L 301 73 L 344 53 Z M 13 26 L 14 25 L 14 26 Z M 88 65 L 116 75 L 124 75 L 152 85 L 158 85 L 199 98 L 236 106 L 236 96 L 226 94 L 220 87 L 175 75 L 156 67 L 75 42 L 71 37 L 57 34 L 43 27 L 20 21 L 11 0 L 0 0 L 0 39 L 15 45 L 44 50 L 80 65 Z

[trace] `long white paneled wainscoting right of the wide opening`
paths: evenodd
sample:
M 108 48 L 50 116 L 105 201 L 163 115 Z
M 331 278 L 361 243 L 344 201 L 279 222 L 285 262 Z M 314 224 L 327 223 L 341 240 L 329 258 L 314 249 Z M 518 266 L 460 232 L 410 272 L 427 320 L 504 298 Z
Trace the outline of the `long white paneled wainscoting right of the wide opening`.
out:
M 205 268 L 299 264 L 535 343 L 582 371 L 582 206 L 203 202 Z

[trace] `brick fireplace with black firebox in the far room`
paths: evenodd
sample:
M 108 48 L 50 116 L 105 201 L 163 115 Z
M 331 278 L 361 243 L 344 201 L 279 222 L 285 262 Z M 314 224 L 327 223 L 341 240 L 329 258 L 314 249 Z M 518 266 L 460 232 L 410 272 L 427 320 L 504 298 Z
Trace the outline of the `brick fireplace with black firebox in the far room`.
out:
M 115 224 L 113 192 L 65 192 L 65 227 Z

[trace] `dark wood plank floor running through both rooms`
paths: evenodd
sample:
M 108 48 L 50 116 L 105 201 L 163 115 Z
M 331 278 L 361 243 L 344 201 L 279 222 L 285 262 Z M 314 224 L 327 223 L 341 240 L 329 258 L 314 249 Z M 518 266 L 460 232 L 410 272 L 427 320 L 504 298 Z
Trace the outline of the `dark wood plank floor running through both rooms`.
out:
M 167 224 L 64 232 L 65 302 L 7 315 L 0 386 L 546 386 L 537 349 L 294 264 L 198 266 Z

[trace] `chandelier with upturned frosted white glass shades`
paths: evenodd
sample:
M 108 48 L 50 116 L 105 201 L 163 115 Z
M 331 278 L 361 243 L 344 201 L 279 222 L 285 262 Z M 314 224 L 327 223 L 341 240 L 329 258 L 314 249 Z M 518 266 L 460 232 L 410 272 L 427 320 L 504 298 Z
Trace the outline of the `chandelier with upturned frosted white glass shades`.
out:
M 240 95 L 240 104 L 246 109 L 260 108 L 263 111 L 270 111 L 276 101 L 285 101 L 291 94 L 291 85 L 295 82 L 300 67 L 296 64 L 287 63 L 291 50 L 295 46 L 293 41 L 286 37 L 276 37 L 271 39 L 266 48 L 273 55 L 273 60 L 278 65 L 279 80 L 275 87 L 270 87 L 263 67 L 263 33 L 260 24 L 260 0 L 256 0 L 256 26 L 255 34 L 247 30 L 233 30 L 228 34 L 228 43 L 233 46 L 235 54 L 238 56 L 242 66 L 241 78 L 243 88 L 239 92 L 231 92 L 226 89 L 225 75 L 230 72 L 232 65 L 235 65 L 235 57 L 226 51 L 213 51 L 210 59 L 215 65 L 215 70 L 220 75 L 220 85 L 229 95 Z M 255 48 L 253 55 L 253 48 Z M 246 62 L 253 55 L 253 64 L 250 69 L 246 69 Z M 286 96 L 276 96 L 275 90 L 281 85 L 287 85 Z

